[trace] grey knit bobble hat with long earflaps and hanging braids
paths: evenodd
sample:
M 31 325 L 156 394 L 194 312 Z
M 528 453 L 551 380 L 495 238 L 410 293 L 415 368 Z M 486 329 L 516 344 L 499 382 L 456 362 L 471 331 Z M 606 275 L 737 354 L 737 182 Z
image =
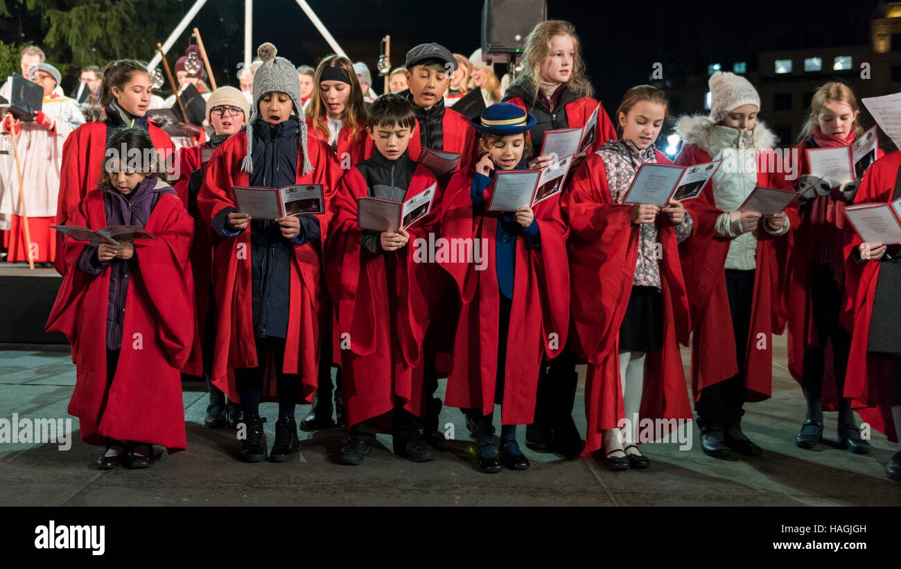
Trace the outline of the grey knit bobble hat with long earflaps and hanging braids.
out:
M 277 58 L 276 47 L 268 41 L 257 48 L 257 56 L 263 60 L 262 65 L 253 74 L 253 108 L 250 109 L 250 119 L 247 121 L 247 156 L 241 162 L 241 171 L 253 172 L 253 128 L 252 124 L 259 118 L 259 99 L 267 93 L 278 91 L 291 97 L 294 103 L 294 111 L 297 123 L 300 125 L 300 149 L 304 155 L 303 174 L 311 174 L 313 165 L 310 164 L 310 155 L 306 151 L 306 121 L 301 114 L 304 106 L 300 103 L 300 77 L 294 64 L 285 58 Z

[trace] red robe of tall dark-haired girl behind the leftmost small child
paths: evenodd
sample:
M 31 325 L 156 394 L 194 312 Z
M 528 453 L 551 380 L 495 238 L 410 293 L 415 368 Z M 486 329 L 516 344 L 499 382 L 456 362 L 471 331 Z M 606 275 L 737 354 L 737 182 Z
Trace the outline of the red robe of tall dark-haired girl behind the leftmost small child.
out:
M 156 123 L 150 122 L 150 140 L 165 159 L 175 152 L 175 146 L 168 134 Z M 57 225 L 71 225 L 71 218 L 77 212 L 78 203 L 89 190 L 100 182 L 104 170 L 106 150 L 106 123 L 86 122 L 68 135 L 62 147 L 62 165 L 59 171 L 59 198 L 57 203 Z M 60 255 L 64 245 L 63 234 L 57 235 L 57 272 L 64 275 L 66 264 Z

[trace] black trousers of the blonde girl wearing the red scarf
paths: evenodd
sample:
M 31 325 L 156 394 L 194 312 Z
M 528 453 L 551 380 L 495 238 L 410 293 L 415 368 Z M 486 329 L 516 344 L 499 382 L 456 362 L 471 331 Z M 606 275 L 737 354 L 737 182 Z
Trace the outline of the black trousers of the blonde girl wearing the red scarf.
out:
M 839 397 L 844 392 L 848 354 L 851 351 L 851 332 L 839 322 L 842 306 L 842 288 L 833 278 L 832 271 L 822 265 L 811 267 L 810 300 L 813 305 L 814 325 L 820 345 L 804 351 L 803 386 L 808 401 L 821 398 L 825 373 L 826 340 L 833 344 L 833 370 L 835 387 Z

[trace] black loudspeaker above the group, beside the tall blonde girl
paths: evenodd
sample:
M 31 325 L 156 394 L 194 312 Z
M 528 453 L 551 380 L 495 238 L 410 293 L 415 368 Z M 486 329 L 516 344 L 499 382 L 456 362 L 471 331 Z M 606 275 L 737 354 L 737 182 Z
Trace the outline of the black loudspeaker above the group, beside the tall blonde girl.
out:
M 522 54 L 525 37 L 539 23 L 547 20 L 548 5 L 544 0 L 485 0 L 482 8 L 482 57 Z

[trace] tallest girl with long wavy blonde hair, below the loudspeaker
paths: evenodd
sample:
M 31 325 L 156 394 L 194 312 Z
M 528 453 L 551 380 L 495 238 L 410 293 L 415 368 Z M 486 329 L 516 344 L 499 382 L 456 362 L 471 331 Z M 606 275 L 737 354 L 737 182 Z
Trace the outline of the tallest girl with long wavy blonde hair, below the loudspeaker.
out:
M 529 158 L 534 158 L 529 167 L 542 168 L 551 163 L 549 156 L 532 156 L 540 152 L 545 131 L 584 127 L 595 110 L 594 141 L 587 151 L 616 139 L 610 117 L 591 98 L 593 89 L 580 45 L 575 26 L 560 20 L 539 23 L 525 39 L 523 71 L 506 90 L 504 101 L 535 115 L 536 122 L 529 129 L 533 148 Z M 574 166 L 578 167 L 578 162 Z M 582 440 L 572 420 L 577 383 L 576 356 L 567 348 L 551 360 L 550 373 L 542 373 L 535 422 L 526 428 L 528 447 L 578 456 Z

